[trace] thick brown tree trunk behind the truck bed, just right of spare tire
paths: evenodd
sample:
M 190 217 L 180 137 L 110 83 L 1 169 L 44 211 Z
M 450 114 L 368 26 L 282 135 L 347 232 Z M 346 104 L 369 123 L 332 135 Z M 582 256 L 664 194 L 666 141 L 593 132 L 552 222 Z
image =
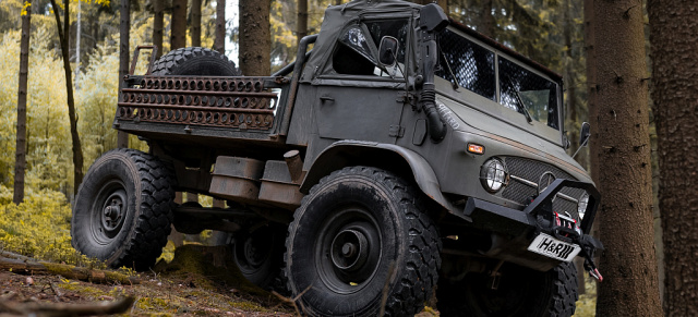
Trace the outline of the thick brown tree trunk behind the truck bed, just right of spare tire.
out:
M 245 76 L 272 73 L 269 0 L 240 0 L 240 70 Z

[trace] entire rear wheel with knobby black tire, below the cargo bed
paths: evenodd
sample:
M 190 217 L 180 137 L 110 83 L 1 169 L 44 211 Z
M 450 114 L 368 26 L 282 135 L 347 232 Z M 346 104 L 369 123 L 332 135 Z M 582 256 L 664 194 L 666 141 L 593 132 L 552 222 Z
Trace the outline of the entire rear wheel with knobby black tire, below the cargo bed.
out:
M 77 191 L 72 243 L 81 253 L 146 270 L 167 243 L 174 206 L 174 178 L 157 158 L 115 149 L 98 158 Z

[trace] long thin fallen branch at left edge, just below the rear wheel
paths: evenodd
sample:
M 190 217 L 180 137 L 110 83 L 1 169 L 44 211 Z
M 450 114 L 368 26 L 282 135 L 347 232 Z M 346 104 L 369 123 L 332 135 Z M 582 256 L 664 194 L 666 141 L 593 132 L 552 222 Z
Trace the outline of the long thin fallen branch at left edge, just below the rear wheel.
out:
M 10 258 L 9 256 L 15 257 Z M 81 268 L 71 265 L 37 261 L 20 255 L 0 254 L 0 270 L 20 275 L 59 275 L 67 279 L 89 281 L 93 283 L 137 284 L 140 279 L 115 271 Z

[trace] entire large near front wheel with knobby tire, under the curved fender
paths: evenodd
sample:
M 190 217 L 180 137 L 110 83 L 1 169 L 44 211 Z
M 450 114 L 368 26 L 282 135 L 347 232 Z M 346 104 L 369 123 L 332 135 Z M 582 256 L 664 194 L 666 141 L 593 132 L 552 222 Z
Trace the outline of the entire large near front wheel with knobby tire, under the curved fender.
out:
M 293 215 L 285 273 L 311 316 L 412 316 L 431 297 L 441 240 L 421 193 L 395 174 L 351 167 L 312 187 Z

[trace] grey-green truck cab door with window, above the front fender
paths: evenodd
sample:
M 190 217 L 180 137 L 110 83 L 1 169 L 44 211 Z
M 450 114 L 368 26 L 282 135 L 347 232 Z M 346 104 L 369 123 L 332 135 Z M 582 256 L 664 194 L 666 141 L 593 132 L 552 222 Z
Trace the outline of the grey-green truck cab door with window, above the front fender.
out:
M 409 20 L 368 21 L 345 27 L 326 62 L 313 105 L 323 138 L 395 143 L 405 90 L 405 48 Z M 398 63 L 378 68 L 377 47 L 383 36 L 399 41 Z

